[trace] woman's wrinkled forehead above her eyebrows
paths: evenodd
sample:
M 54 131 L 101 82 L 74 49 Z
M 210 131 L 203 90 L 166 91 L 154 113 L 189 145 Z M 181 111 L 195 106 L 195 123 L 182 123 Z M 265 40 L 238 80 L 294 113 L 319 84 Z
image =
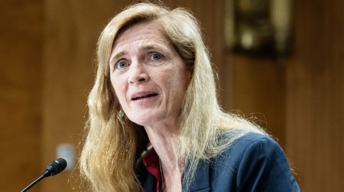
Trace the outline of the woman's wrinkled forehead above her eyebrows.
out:
M 143 44 L 160 44 L 172 46 L 166 35 L 154 23 L 139 23 L 117 35 L 113 52 L 125 48 L 137 48 Z

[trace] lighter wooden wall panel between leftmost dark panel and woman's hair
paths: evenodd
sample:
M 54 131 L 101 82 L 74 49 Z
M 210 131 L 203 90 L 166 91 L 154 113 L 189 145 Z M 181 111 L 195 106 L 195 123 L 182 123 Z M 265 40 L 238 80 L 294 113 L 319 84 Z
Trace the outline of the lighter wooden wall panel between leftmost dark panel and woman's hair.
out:
M 76 147 L 81 140 L 86 100 L 95 76 L 97 39 L 116 11 L 129 3 L 45 0 L 43 162 L 56 159 L 58 144 Z M 77 169 L 66 170 L 44 181 L 42 191 L 78 190 L 77 179 Z

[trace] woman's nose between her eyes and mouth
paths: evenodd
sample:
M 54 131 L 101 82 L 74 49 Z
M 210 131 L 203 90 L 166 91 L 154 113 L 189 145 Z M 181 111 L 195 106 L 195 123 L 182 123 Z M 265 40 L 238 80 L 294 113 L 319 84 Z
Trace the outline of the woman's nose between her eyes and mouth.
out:
M 129 69 L 130 76 L 128 78 L 129 84 L 143 83 L 149 80 L 146 67 L 143 63 L 132 61 Z

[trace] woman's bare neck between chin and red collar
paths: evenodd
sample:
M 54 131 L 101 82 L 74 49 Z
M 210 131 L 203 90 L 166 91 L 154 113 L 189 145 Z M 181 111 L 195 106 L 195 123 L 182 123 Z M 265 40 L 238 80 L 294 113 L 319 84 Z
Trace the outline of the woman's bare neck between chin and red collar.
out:
M 160 158 L 164 192 L 181 191 L 181 175 L 178 166 L 178 126 L 176 123 L 164 123 L 145 126 L 144 129 Z

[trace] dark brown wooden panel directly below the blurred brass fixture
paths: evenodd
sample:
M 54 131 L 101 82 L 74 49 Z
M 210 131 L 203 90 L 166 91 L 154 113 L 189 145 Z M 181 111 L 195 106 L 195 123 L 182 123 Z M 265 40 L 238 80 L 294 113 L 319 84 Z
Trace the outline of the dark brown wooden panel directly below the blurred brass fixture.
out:
M 284 149 L 286 86 L 285 69 L 276 58 L 229 55 L 232 65 L 233 109 L 256 120 Z

